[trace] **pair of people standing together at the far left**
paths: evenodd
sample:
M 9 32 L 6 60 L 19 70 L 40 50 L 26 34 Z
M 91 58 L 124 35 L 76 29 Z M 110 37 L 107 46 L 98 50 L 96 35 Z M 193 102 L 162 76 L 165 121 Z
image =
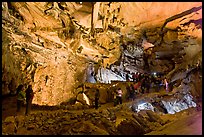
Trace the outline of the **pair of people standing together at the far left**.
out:
M 34 97 L 34 92 L 32 89 L 32 85 L 28 85 L 28 88 L 24 90 L 24 86 L 21 84 L 17 88 L 17 112 L 21 111 L 21 107 L 26 104 L 26 112 L 25 114 L 30 114 L 32 100 Z

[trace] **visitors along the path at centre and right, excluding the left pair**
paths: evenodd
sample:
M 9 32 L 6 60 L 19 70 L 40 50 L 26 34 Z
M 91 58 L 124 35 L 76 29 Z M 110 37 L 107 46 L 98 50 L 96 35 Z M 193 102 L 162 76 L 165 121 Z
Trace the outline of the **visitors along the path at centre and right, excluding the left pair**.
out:
M 164 86 L 166 92 L 169 92 L 169 83 L 166 78 L 161 79 L 161 78 L 155 78 L 152 75 L 148 75 L 147 73 L 133 73 L 132 75 L 132 81 L 128 77 L 127 81 L 129 83 L 126 86 L 127 90 L 127 95 L 128 95 L 128 100 L 134 100 L 136 98 L 136 95 L 139 94 L 144 94 L 144 93 L 149 93 L 149 90 L 151 87 L 153 87 L 152 84 L 156 85 L 156 91 L 160 91 L 160 88 Z M 98 91 L 98 90 L 97 90 Z M 98 91 L 99 92 L 99 91 Z M 98 92 L 96 92 L 95 95 L 95 108 L 98 108 Z M 118 88 L 115 91 L 115 96 L 114 96 L 114 106 L 118 104 L 122 104 L 122 95 L 123 91 L 121 88 Z

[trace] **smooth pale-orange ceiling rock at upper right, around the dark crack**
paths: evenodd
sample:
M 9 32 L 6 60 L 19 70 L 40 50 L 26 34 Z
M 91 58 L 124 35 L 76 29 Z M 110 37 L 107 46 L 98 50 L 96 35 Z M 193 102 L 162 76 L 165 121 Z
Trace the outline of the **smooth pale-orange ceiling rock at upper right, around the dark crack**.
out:
M 141 26 L 154 26 L 163 23 L 163 21 L 171 16 L 182 13 L 193 7 L 201 6 L 201 3 L 192 2 L 133 2 L 123 3 L 121 14 L 128 24 L 141 25 Z M 171 11 L 171 12 L 170 12 Z M 199 11 L 200 15 L 195 15 L 194 19 L 202 18 L 202 10 Z M 190 15 L 188 15 L 189 17 Z M 186 22 L 189 18 L 182 20 Z M 179 19 L 168 24 L 168 27 L 175 28 L 179 24 Z M 181 23 L 181 22 L 180 22 Z

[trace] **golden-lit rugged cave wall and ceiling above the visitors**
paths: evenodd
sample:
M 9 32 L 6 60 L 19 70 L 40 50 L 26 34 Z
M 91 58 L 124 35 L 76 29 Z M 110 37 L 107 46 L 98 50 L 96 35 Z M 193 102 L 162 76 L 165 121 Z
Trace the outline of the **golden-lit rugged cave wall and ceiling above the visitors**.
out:
M 199 28 L 199 23 L 188 24 L 189 20 L 202 20 L 202 9 L 197 11 L 198 14 L 192 12 L 192 15 L 169 22 L 163 35 L 159 28 L 153 26 L 162 26 L 165 19 L 201 5 L 202 3 L 196 2 L 174 5 L 113 2 L 109 7 L 110 14 L 105 14 L 107 8 L 104 9 L 105 12 L 100 11 L 108 21 L 103 24 L 104 32 L 99 33 L 96 29 L 94 39 L 90 37 L 90 28 L 84 27 L 82 23 L 91 18 L 91 12 L 87 12 L 89 6 L 81 6 L 75 2 L 65 5 L 57 2 L 3 2 L 2 94 L 15 94 L 18 85 L 32 84 L 34 104 L 57 105 L 75 96 L 75 88 L 85 81 L 123 81 L 127 71 L 141 71 L 144 67 L 144 50 L 141 46 L 144 35 L 154 45 L 155 52 L 172 51 L 175 48 L 186 52 L 181 60 L 180 54 L 183 53 L 180 52 L 165 61 L 154 61 L 154 53 L 149 57 L 150 70 L 170 72 L 173 69 L 169 74 L 171 77 L 179 69 L 177 64 L 182 61 L 186 62 L 190 58 L 190 66 L 202 62 L 201 56 L 197 56 L 197 53 L 201 53 L 202 29 Z M 118 7 L 120 10 L 116 12 Z M 167 7 L 171 7 L 171 12 Z M 86 15 L 82 9 L 86 10 Z M 117 21 L 112 21 L 113 17 Z M 181 25 L 184 23 L 187 24 Z M 138 26 L 139 24 L 141 25 Z M 97 26 L 100 25 L 96 23 L 96 28 Z M 171 30 L 177 27 L 180 29 Z M 133 63 L 132 58 L 136 58 L 136 62 Z M 99 63 L 102 59 L 103 64 Z M 87 79 L 89 62 L 96 64 L 94 71 L 97 79 Z M 107 71 L 101 66 L 108 67 Z M 106 78 L 107 74 L 111 78 Z

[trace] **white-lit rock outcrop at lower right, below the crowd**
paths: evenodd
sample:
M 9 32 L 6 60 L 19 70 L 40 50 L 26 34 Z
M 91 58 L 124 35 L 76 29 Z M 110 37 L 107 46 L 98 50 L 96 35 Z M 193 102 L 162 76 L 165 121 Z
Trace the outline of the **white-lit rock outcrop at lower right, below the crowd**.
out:
M 168 96 L 151 97 L 151 99 L 139 99 L 132 104 L 132 110 L 139 112 L 141 110 L 152 110 L 154 112 L 160 111 L 158 107 L 163 108 L 165 113 L 175 114 L 182 110 L 196 107 L 197 98 L 195 95 L 195 86 L 192 84 L 194 74 L 183 75 L 180 74 L 181 84 L 174 88 L 172 92 L 166 93 Z M 175 80 L 175 79 L 174 79 Z M 192 96 L 192 93 L 194 96 Z M 198 93 L 197 93 L 198 94 Z

